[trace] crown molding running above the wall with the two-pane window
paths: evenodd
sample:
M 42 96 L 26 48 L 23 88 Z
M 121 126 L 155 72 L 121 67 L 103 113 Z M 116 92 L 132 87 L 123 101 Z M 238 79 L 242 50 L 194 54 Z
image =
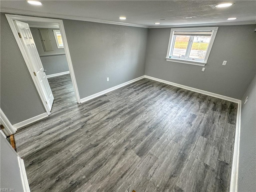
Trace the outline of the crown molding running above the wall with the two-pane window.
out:
M 209 27 L 209 26 L 227 26 L 227 25 L 255 25 L 256 21 L 240 21 L 225 23 L 204 23 L 204 24 L 186 24 L 186 25 L 162 25 L 148 26 L 148 28 L 180 28 L 180 27 Z

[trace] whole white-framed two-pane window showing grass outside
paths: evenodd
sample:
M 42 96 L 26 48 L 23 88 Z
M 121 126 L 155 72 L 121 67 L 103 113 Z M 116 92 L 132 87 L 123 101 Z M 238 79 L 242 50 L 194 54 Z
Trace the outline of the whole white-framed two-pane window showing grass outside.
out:
M 166 60 L 205 66 L 218 27 L 173 28 Z

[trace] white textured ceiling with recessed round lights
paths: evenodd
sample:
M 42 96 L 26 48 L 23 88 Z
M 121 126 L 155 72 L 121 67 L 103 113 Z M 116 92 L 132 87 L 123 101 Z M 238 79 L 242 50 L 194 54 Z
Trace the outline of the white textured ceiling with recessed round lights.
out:
M 1 12 L 95 22 L 110 21 L 113 24 L 122 22 L 142 27 L 256 24 L 256 0 L 44 0 L 40 2 L 43 3 L 42 6 L 32 6 L 25 0 L 1 0 L 0 7 Z M 234 5 L 228 8 L 215 7 L 216 4 L 223 2 L 233 2 Z M 126 16 L 127 19 L 121 21 L 119 16 Z M 185 19 L 186 16 L 193 18 Z M 228 21 L 230 17 L 238 19 Z M 156 26 L 155 22 L 160 22 L 160 25 Z

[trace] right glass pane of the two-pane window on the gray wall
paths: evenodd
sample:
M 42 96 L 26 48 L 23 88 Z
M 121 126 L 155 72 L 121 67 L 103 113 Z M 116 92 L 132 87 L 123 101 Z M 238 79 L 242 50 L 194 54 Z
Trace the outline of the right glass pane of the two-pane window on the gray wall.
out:
M 210 43 L 211 37 L 208 36 L 194 36 L 192 48 L 190 50 L 189 58 L 192 59 L 204 59 L 206 50 Z

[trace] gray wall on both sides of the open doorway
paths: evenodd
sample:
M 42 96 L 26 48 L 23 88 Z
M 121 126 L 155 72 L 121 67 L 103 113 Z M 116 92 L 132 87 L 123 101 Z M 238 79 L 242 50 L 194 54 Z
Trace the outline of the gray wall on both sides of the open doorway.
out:
M 64 27 L 80 98 L 144 75 L 148 29 L 75 20 Z M 12 124 L 45 112 L 4 13 L 1 109 Z

